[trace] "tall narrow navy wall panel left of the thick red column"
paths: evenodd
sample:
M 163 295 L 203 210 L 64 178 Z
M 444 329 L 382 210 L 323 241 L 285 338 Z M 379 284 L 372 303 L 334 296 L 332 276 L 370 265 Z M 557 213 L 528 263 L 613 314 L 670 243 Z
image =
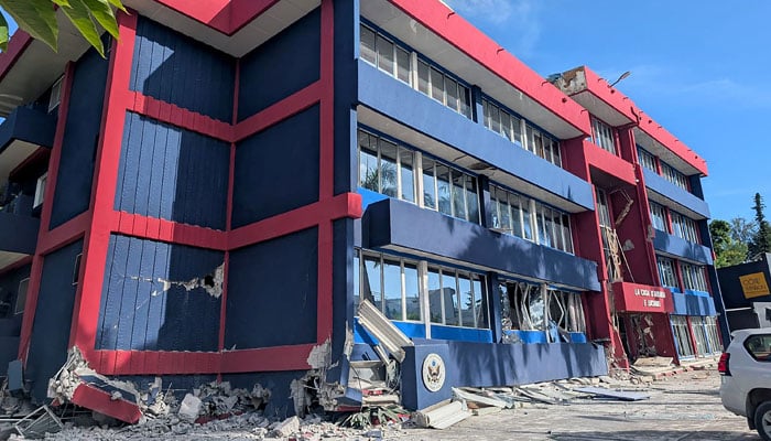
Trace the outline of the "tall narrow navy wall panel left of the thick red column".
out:
M 50 228 L 88 209 L 109 63 L 89 50 L 75 65 Z

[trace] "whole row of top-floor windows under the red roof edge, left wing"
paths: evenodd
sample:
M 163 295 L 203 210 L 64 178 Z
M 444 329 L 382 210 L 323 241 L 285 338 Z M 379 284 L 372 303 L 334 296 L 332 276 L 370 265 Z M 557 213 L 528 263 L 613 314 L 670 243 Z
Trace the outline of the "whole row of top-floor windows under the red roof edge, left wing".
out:
M 359 35 L 361 60 L 458 114 L 474 119 L 471 89 L 460 78 L 366 24 L 360 25 Z M 478 116 L 478 119 L 485 127 L 519 143 L 521 148 L 537 157 L 562 166 L 557 139 L 490 97 L 482 97 L 481 103 L 482 115 Z

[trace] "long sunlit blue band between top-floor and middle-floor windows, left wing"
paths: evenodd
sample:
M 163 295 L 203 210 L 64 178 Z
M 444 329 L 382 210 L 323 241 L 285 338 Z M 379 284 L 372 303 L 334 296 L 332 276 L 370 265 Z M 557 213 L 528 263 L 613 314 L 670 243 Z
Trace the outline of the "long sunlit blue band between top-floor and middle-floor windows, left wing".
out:
M 588 182 L 512 144 L 485 126 L 394 80 L 363 61 L 359 62 L 358 84 L 360 101 L 378 112 L 565 201 L 594 209 L 594 195 Z

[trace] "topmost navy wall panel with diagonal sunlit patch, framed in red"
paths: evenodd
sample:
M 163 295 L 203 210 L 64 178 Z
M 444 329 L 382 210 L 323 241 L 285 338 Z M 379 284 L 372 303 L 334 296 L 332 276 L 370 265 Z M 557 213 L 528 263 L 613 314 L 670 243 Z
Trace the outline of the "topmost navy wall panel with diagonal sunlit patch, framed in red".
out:
M 229 55 L 140 15 L 132 90 L 230 122 L 235 78 Z

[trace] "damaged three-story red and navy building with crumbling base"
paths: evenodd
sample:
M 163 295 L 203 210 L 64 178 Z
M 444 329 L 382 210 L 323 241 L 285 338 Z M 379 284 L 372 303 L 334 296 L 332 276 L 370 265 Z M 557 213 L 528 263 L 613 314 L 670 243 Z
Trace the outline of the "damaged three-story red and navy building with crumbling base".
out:
M 131 419 L 105 378 L 292 413 L 382 364 L 422 408 L 719 351 L 706 164 L 589 69 L 437 0 L 124 3 L 104 58 L 0 55 L 0 366 L 35 400 L 68 353 L 101 386 L 67 398 Z

